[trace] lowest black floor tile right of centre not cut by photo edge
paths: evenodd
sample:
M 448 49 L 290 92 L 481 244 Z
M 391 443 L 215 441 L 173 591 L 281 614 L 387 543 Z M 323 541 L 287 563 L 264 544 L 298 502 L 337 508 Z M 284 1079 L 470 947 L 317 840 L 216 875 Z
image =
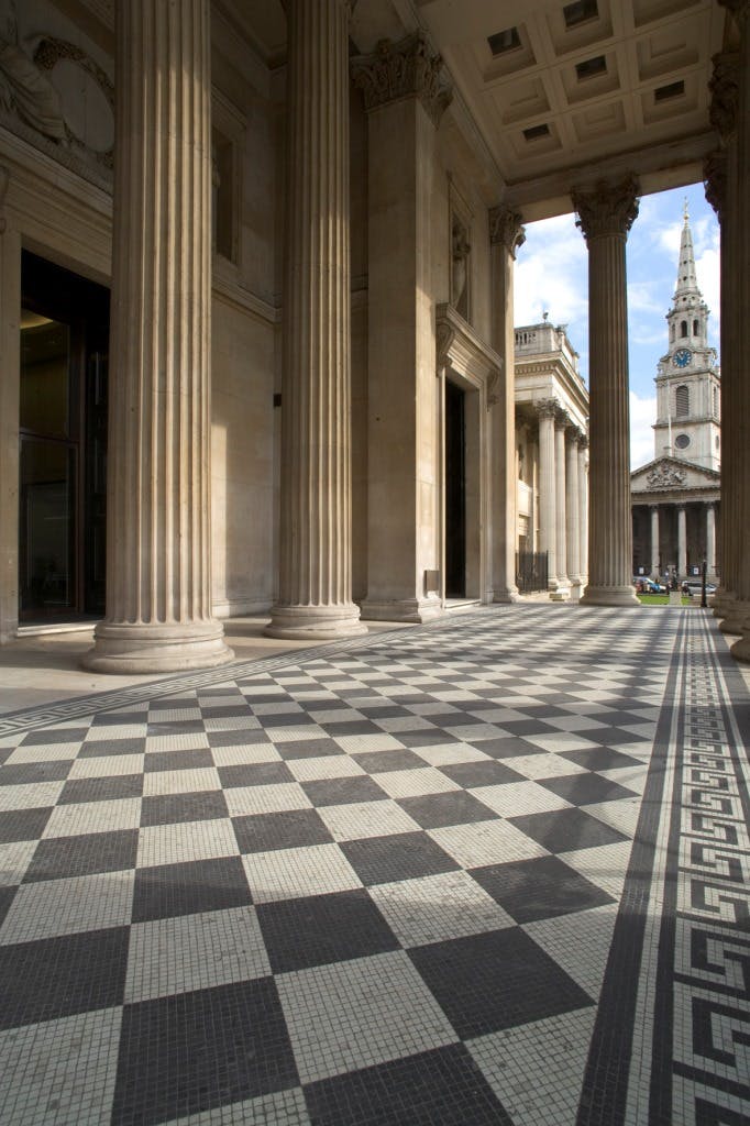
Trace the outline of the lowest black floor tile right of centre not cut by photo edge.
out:
M 520 928 L 417 947 L 409 957 L 463 1039 L 591 1004 Z

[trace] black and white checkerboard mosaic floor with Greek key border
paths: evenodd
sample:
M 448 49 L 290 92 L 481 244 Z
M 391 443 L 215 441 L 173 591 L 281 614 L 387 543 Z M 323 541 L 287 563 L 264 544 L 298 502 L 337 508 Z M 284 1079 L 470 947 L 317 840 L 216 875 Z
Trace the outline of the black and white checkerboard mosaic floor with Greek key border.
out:
M 750 705 L 511 606 L 0 720 L 0 1121 L 750 1121 Z

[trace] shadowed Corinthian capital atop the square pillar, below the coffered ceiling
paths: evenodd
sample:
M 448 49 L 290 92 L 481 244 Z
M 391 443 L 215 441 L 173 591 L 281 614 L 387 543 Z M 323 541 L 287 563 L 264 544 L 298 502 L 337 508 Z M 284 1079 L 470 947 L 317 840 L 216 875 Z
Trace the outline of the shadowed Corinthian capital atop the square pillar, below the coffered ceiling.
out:
M 399 43 L 381 39 L 372 55 L 351 60 L 354 83 L 361 90 L 365 109 L 376 109 L 401 98 L 419 98 L 437 128 L 450 105 L 453 88 L 422 32 Z

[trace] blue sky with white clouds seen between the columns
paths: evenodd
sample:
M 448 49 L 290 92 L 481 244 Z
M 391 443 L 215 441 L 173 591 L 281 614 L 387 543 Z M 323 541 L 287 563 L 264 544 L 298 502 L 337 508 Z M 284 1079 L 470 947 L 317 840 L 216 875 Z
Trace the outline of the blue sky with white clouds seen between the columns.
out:
M 682 207 L 688 202 L 698 285 L 711 310 L 709 341 L 718 348 L 718 223 L 702 184 L 643 196 L 627 239 L 627 319 L 631 382 L 631 466 L 653 457 L 657 417 L 657 364 L 667 351 L 667 311 L 679 260 Z M 588 383 L 588 262 L 574 215 L 526 226 L 516 260 L 517 325 L 534 324 L 547 310 L 554 324 L 566 324 Z

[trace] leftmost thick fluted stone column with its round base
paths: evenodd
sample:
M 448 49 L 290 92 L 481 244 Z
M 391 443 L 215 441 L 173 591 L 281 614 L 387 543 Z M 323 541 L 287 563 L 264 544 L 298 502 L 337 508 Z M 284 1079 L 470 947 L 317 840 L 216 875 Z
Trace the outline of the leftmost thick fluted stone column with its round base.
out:
M 211 615 L 211 5 L 116 11 L 107 616 L 84 663 L 166 672 L 232 656 Z

